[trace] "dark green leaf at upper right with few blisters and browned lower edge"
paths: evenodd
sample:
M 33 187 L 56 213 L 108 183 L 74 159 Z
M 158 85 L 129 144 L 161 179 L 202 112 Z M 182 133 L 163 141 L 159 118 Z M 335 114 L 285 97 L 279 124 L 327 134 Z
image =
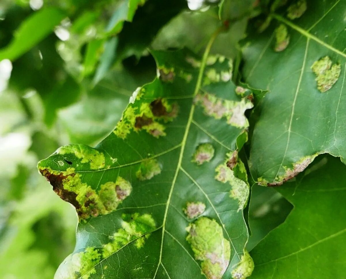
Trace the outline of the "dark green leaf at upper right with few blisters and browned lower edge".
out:
M 318 154 L 346 156 L 344 4 L 308 3 L 294 21 L 273 14 L 243 49 L 246 82 L 270 91 L 257 108 L 249 162 L 262 184 L 282 184 Z

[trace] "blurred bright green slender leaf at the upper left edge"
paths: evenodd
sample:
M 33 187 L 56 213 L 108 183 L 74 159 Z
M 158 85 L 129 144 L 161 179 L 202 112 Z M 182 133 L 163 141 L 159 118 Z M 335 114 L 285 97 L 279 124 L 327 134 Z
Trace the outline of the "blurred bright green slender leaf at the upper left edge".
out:
M 2 59 L 15 60 L 39 43 L 66 15 L 56 8 L 45 8 L 35 12 L 22 22 L 11 43 L 0 49 Z

